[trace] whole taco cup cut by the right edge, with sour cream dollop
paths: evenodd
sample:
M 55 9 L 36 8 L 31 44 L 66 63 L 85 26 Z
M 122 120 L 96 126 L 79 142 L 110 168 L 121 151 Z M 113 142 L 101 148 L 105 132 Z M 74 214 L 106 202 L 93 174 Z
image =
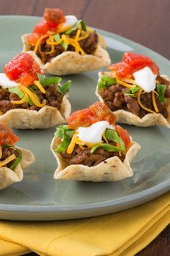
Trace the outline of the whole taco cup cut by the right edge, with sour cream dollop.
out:
M 117 121 L 138 127 L 170 128 L 170 82 L 151 58 L 126 52 L 122 61 L 100 72 L 96 95 Z

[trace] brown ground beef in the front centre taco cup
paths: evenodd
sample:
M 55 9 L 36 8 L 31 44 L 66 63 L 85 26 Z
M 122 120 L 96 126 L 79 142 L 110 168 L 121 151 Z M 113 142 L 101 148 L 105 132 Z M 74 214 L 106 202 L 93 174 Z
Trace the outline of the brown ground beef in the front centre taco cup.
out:
M 115 145 L 115 142 L 109 141 L 109 144 Z M 79 145 L 76 145 L 73 153 L 61 153 L 62 157 L 69 161 L 69 164 L 83 164 L 84 166 L 97 166 L 98 163 L 106 161 L 107 158 L 117 156 L 121 161 L 124 161 L 125 155 L 118 152 L 108 152 L 102 148 L 98 148 L 94 153 L 90 153 L 90 149 L 82 150 Z

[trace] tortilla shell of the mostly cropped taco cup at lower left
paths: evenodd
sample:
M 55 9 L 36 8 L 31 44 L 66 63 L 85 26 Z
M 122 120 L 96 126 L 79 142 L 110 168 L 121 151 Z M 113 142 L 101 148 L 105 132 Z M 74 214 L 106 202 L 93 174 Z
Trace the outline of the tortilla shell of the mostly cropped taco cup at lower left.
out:
M 35 162 L 35 156 L 30 150 L 18 148 L 22 152 L 22 161 L 12 171 L 10 168 L 0 168 L 0 189 L 10 186 L 13 183 L 21 182 L 23 179 L 23 170 Z

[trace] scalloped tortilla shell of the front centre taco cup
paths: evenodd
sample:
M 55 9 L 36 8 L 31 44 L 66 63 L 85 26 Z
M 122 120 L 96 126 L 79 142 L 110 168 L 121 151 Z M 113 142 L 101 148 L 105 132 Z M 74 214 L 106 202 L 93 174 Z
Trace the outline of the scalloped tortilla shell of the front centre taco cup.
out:
M 60 143 L 61 139 L 54 137 L 50 145 L 50 149 L 58 162 L 54 179 L 72 179 L 86 182 L 115 182 L 133 176 L 130 162 L 140 149 L 140 145 L 134 142 L 126 153 L 123 163 L 120 158 L 114 156 L 97 164 L 97 166 L 89 167 L 82 164 L 69 165 L 68 161 L 61 154 L 55 153 L 55 149 Z

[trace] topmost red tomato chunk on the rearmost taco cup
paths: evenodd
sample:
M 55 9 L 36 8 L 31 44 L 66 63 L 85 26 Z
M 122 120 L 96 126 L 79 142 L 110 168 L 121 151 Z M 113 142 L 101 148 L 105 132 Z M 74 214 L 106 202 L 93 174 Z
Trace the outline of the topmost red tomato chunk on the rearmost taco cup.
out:
M 43 18 L 49 23 L 50 27 L 55 27 L 56 24 L 66 22 L 66 18 L 61 9 L 45 8 Z

